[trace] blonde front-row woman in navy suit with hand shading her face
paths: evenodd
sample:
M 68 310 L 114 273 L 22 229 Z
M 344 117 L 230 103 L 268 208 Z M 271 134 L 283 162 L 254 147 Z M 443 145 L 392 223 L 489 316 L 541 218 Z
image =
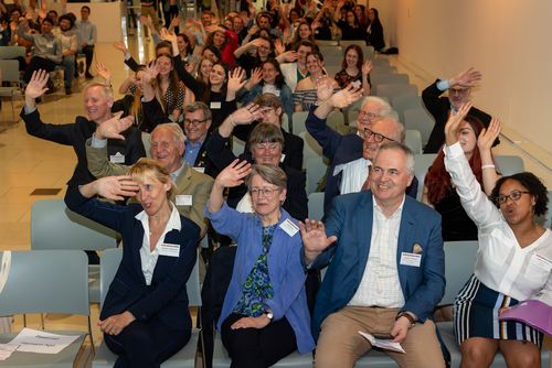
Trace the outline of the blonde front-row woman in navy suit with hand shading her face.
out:
M 123 235 L 123 260 L 99 315 L 115 367 L 159 367 L 190 339 L 192 322 L 185 283 L 195 264 L 200 228 L 179 215 L 170 198 L 174 184 L 155 160 L 141 159 L 128 176 L 70 186 L 72 210 Z M 94 199 L 134 196 L 118 206 Z

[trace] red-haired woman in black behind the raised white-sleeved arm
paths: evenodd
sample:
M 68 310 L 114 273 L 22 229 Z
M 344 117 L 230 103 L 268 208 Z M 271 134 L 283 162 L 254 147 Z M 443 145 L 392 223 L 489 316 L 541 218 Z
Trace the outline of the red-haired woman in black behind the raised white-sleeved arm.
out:
M 493 162 L 490 147 L 484 147 L 488 143 L 488 138 L 500 129 L 498 120 L 493 120 L 491 125 L 492 127 L 489 130 L 484 130 L 479 119 L 467 116 L 458 131 L 458 141 L 466 160 L 469 162 L 471 172 L 488 195 L 490 195 L 498 180 L 493 164 L 481 167 L 481 160 L 485 159 L 481 155 L 488 154 L 489 162 Z M 492 142 L 490 143 L 492 144 Z M 484 180 L 484 175 L 486 175 L 486 180 Z M 456 193 L 450 175 L 445 169 L 445 153 L 443 150 L 439 151 L 425 175 L 422 202 L 440 214 L 444 241 L 477 240 L 477 226 L 460 204 L 460 197 Z

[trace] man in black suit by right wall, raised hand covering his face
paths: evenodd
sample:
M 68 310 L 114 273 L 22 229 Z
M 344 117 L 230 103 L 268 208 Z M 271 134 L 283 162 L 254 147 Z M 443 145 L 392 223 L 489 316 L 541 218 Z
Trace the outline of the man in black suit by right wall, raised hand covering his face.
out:
M 463 104 L 470 100 L 471 87 L 481 79 L 481 73 L 469 68 L 448 79 L 437 79 L 422 91 L 425 108 L 435 119 L 435 126 L 424 148 L 424 153 L 437 153 L 445 142 L 445 123 L 450 113 L 457 113 Z M 448 98 L 439 97 L 448 90 Z M 490 123 L 490 115 L 471 108 L 469 115 L 479 119 L 485 128 Z

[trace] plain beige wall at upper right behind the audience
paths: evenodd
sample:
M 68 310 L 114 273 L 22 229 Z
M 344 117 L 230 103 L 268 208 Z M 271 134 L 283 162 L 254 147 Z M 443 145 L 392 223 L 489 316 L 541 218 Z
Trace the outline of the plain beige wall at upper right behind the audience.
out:
M 552 153 L 552 1 L 372 0 L 401 58 L 435 77 L 481 71 L 476 105 Z M 549 161 L 550 163 L 550 161 Z

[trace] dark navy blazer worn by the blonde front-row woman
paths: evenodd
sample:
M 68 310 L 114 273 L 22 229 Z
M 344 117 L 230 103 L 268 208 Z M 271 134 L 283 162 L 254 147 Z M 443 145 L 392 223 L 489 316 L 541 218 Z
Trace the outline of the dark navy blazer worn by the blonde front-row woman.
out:
M 181 230 L 171 230 L 164 237 L 166 242 L 180 245 L 180 255 L 159 256 L 148 286 L 140 260 L 144 227 L 135 218 L 142 210 L 141 205 L 125 207 L 88 199 L 81 195 L 77 187 L 67 188 L 65 203 L 71 210 L 119 231 L 123 236 L 123 260 L 109 285 L 99 318 L 105 320 L 129 311 L 138 321 L 158 321 L 172 331 L 191 329 L 185 283 L 195 264 L 199 226 L 180 216 Z

